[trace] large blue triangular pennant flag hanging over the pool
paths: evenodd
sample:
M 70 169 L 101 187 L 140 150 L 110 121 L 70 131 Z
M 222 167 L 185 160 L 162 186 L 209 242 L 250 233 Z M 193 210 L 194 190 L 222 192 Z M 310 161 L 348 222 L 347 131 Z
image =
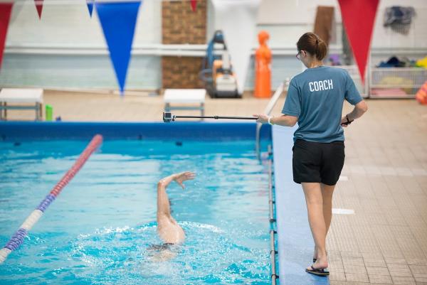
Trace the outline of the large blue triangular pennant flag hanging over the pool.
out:
M 120 95 L 124 95 L 127 68 L 130 62 L 132 41 L 140 1 L 95 2 L 96 12 L 104 32 L 105 41 L 110 50 L 110 58 L 120 86 Z

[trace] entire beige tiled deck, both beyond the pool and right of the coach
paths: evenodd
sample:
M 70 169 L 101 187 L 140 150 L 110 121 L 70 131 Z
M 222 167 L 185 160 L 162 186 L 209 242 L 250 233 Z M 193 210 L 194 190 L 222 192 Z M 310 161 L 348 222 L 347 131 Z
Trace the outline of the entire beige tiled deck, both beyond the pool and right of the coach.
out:
M 162 97 L 148 93 L 120 98 L 46 91 L 44 101 L 64 121 L 162 119 Z M 267 103 L 250 95 L 206 99 L 206 114 L 247 116 Z M 333 207 L 354 214 L 332 219 L 330 284 L 427 285 L 427 106 L 415 100 L 368 100 L 368 105 L 367 114 L 345 130 L 346 161 Z M 349 110 L 345 104 L 343 112 Z M 12 110 L 8 118 L 33 119 L 34 112 Z

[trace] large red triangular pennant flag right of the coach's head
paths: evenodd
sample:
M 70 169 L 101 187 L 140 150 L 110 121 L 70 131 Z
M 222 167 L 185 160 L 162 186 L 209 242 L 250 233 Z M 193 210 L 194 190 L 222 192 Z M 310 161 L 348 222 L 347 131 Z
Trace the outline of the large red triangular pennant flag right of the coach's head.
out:
M 352 45 L 353 55 L 364 82 L 379 0 L 338 0 L 342 22 Z M 361 18 L 362 16 L 362 18 Z

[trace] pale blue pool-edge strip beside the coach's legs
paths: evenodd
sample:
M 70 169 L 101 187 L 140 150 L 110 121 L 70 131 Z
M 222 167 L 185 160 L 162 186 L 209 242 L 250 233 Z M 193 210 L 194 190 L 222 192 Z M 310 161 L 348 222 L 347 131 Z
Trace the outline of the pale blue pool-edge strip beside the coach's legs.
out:
M 307 274 L 313 241 L 307 221 L 304 193 L 292 180 L 292 145 L 296 127 L 273 126 L 275 206 L 278 229 L 280 285 L 325 285 L 329 278 Z

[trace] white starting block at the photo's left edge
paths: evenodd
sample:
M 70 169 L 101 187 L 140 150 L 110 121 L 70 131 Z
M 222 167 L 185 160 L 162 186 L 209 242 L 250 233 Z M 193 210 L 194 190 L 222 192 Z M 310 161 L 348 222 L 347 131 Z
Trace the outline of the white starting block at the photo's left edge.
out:
M 10 104 L 31 104 L 11 106 Z M 35 109 L 36 120 L 40 120 L 43 107 L 43 89 L 3 88 L 0 91 L 0 119 L 7 119 L 7 109 Z M 3 116 L 4 113 L 4 116 Z

